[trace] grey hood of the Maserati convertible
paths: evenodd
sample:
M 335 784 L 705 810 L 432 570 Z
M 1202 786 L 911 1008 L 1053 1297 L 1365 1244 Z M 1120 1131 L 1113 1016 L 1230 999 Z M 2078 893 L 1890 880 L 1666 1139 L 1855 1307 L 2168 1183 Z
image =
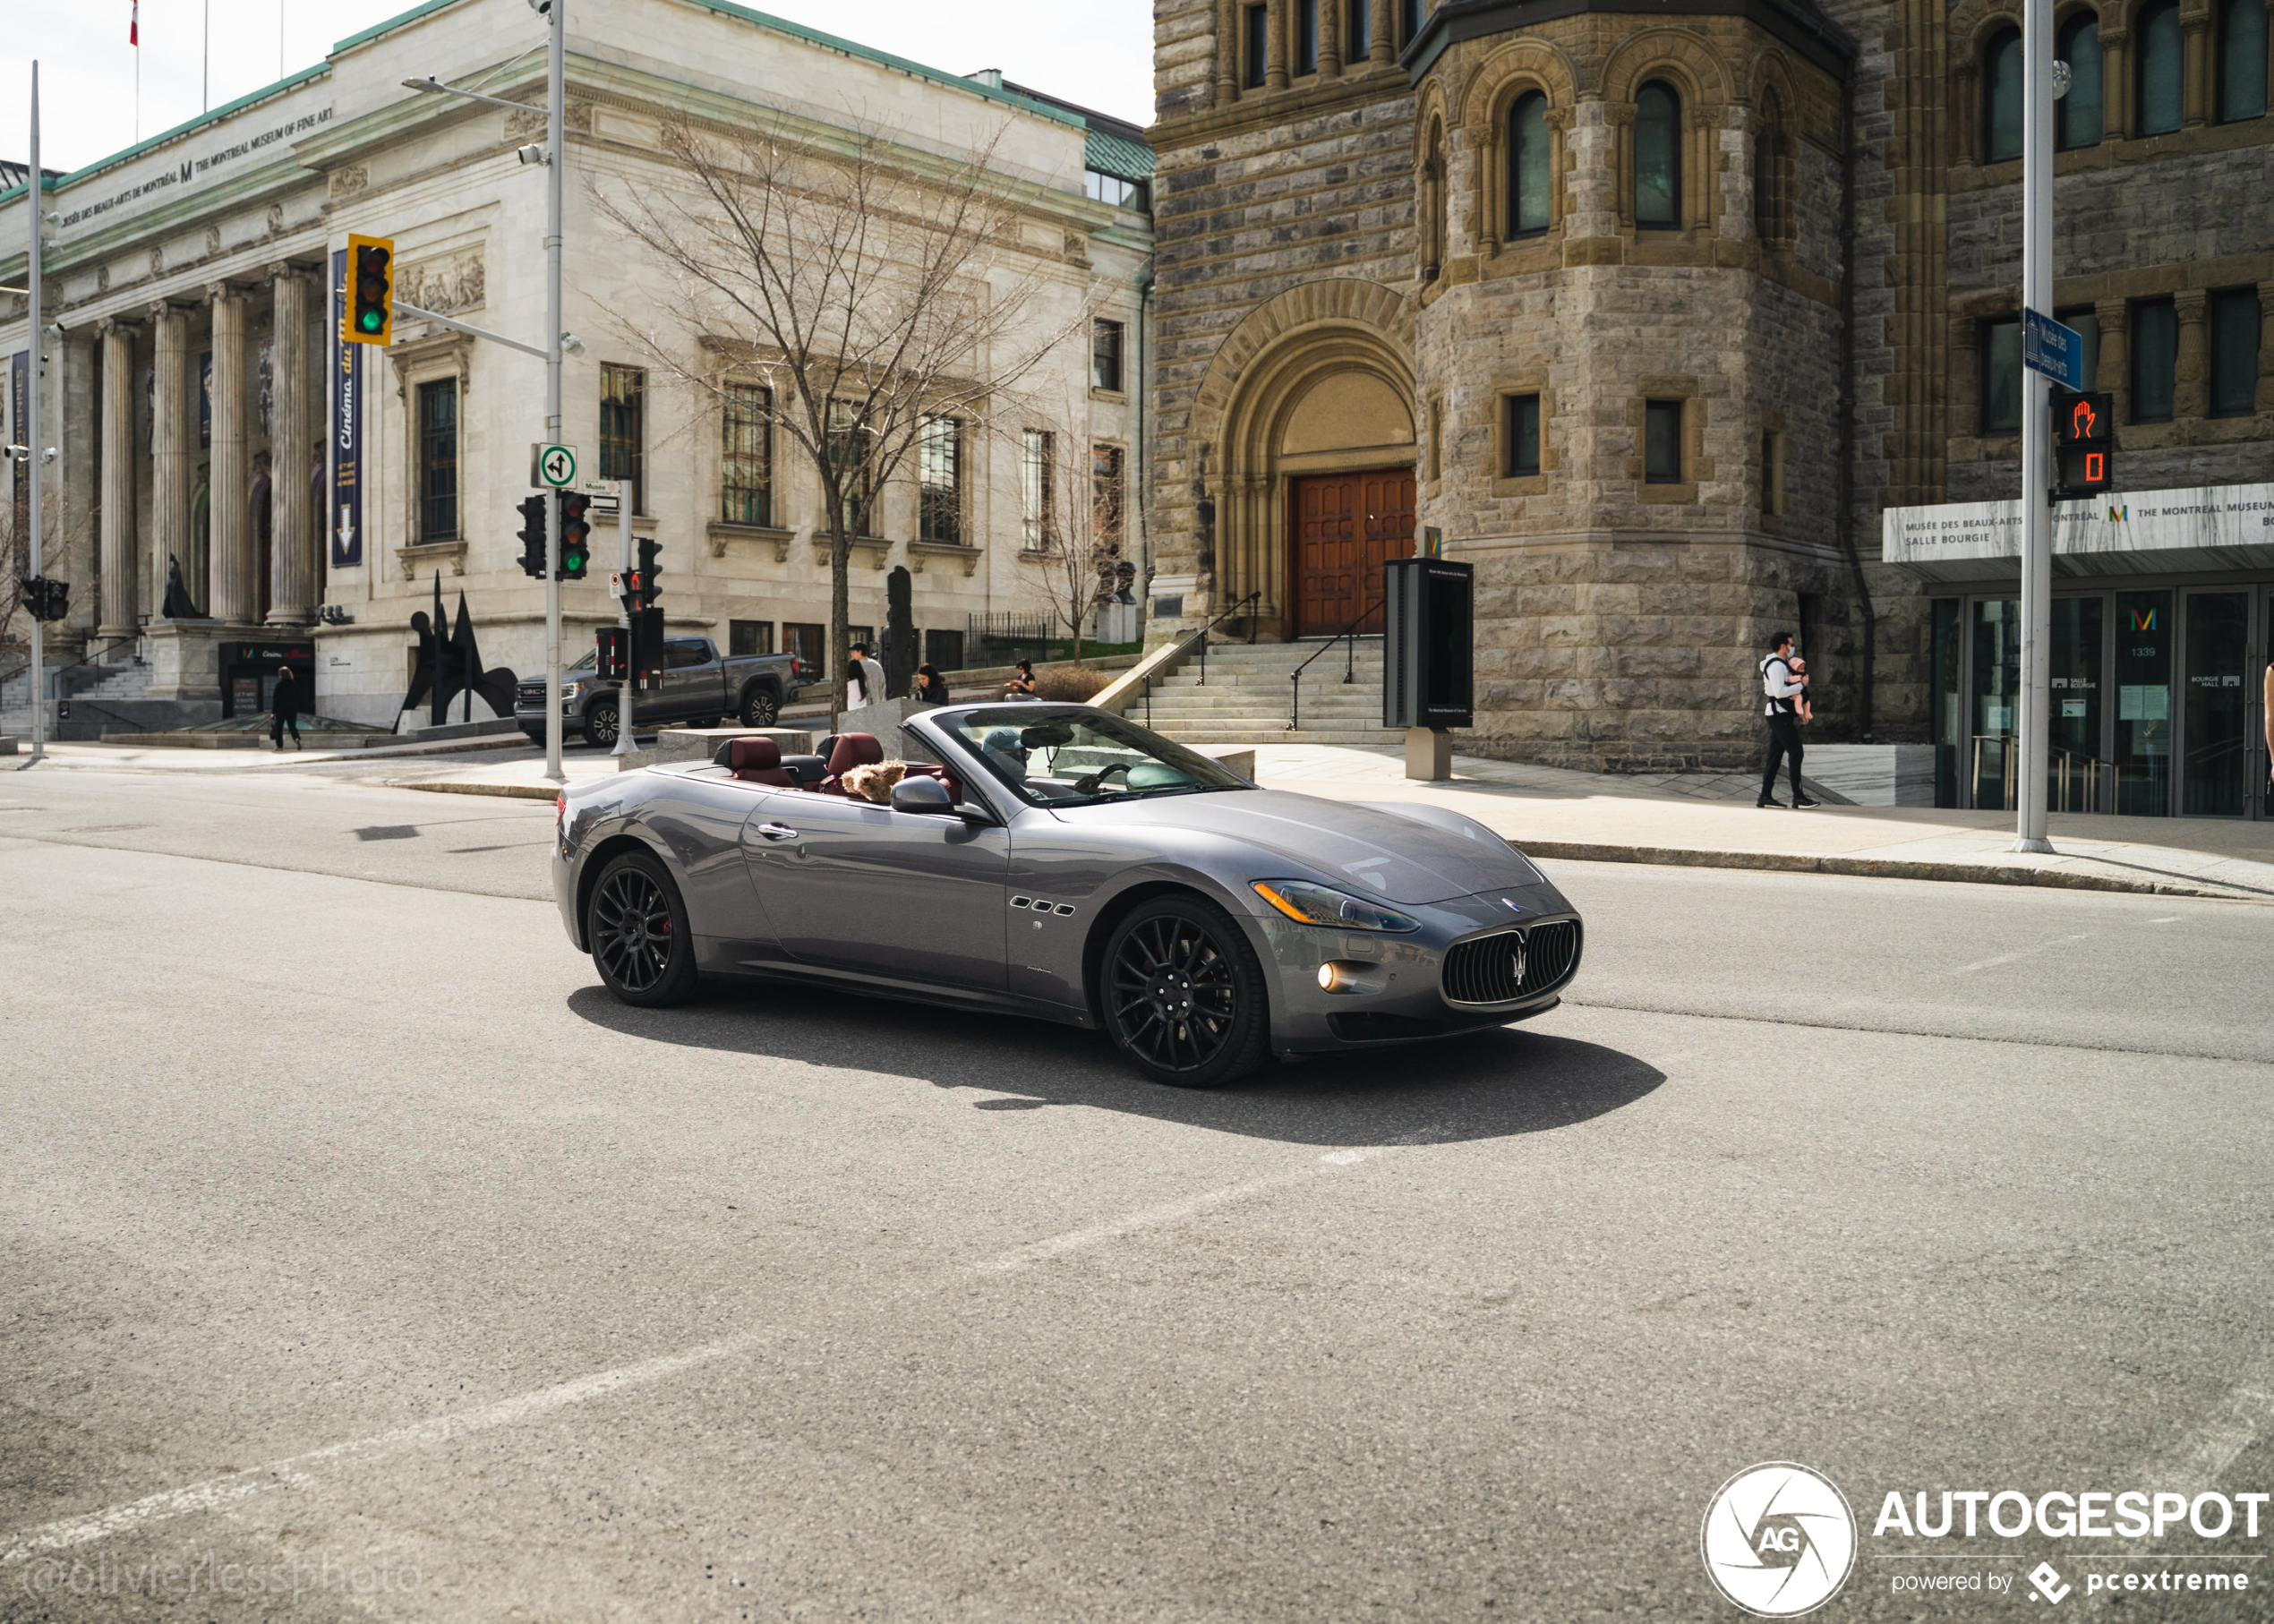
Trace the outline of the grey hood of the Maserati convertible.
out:
M 1442 903 L 1503 885 L 1539 885 L 1539 873 L 1499 835 L 1430 828 L 1394 812 L 1283 789 L 1221 789 L 1160 801 L 1069 807 L 1067 823 L 1103 819 L 1117 828 L 1178 828 L 1253 846 L 1258 871 L 1317 873 L 1392 903 Z

